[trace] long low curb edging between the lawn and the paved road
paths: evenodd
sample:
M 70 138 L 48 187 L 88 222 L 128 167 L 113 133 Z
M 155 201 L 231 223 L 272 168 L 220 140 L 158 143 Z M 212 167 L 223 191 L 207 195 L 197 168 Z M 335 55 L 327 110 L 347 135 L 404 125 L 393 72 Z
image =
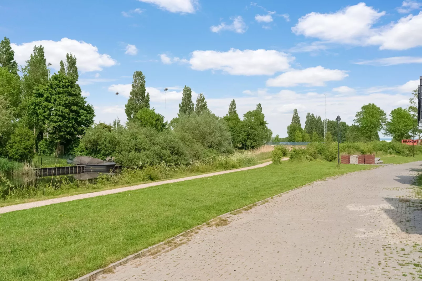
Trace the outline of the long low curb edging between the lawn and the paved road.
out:
M 289 159 L 289 158 L 284 158 L 284 159 L 282 159 L 282 160 L 284 161 L 284 160 L 288 160 L 288 159 Z M 375 168 L 382 168 L 382 167 L 386 167 L 386 166 L 388 166 L 388 165 L 376 166 L 376 167 L 373 167 L 373 168 L 368 169 L 368 170 L 372 170 L 372 169 L 375 169 Z M 294 190 L 296 190 L 296 189 L 301 189 L 301 188 L 302 188 L 302 187 L 304 187 L 304 186 L 309 186 L 309 185 L 314 184 L 314 183 L 316 183 L 316 182 L 318 182 L 318 181 L 325 181 L 325 180 L 330 179 L 330 178 L 335 178 L 335 177 L 338 177 L 338 176 L 344 176 L 344 175 L 347 175 L 347 174 L 350 174 L 350 173 L 359 173 L 359 172 L 362 172 L 362 171 L 365 171 L 365 170 L 348 172 L 348 173 L 344 173 L 344 174 L 341 174 L 341 175 L 330 176 L 330 177 L 327 177 L 327 178 L 320 178 L 320 179 L 318 179 L 318 180 L 316 180 L 316 181 L 313 181 L 313 182 L 311 182 L 311 183 L 304 184 L 303 186 L 298 186 L 298 187 L 295 187 L 295 188 L 293 188 L 293 189 L 287 190 L 287 191 L 282 192 L 282 193 L 280 193 L 280 194 L 277 194 L 277 195 L 274 195 L 274 196 L 268 197 L 268 198 L 266 198 L 266 199 L 260 200 L 260 201 L 258 201 L 258 202 L 255 202 L 255 203 L 252 203 L 252 204 L 246 205 L 246 206 L 244 206 L 244 207 L 242 207 L 242 208 L 238 208 L 238 209 L 233 210 L 233 211 L 230 211 L 230 212 L 228 212 L 228 213 L 224 213 L 224 214 L 222 214 L 222 215 L 220 215 L 220 216 L 216 216 L 215 218 L 210 219 L 208 222 L 204 222 L 203 224 L 197 225 L 196 227 L 193 227 L 193 228 L 191 228 L 191 229 L 189 229 L 189 230 L 187 230 L 187 231 L 185 231 L 185 232 L 182 232 L 182 233 L 180 233 L 180 234 L 178 234 L 178 235 L 176 235 L 176 236 L 174 236 L 174 237 L 172 237 L 172 238 L 166 239 L 165 241 L 163 241 L 163 242 L 161 242 L 161 243 L 155 244 L 155 245 L 153 245 L 153 246 L 150 246 L 149 248 L 146 248 L 146 249 L 143 249 L 143 250 L 141 250 L 141 251 L 138 251 L 138 252 L 137 252 L 137 253 L 135 253 L 135 254 L 131 254 L 130 256 L 124 257 L 123 259 L 120 259 L 120 260 L 119 260 L 119 261 L 117 261 L 117 262 L 114 262 L 114 263 L 112 263 L 112 264 L 110 264 L 110 265 L 108 265 L 108 266 L 106 266 L 106 267 L 103 267 L 103 268 L 97 269 L 97 270 L 95 270 L 95 271 L 92 271 L 92 272 L 90 272 L 90 273 L 88 273 L 88 274 L 86 274 L 86 275 L 84 275 L 84 276 L 81 276 L 81 277 L 79 277 L 79 278 L 77 278 L 77 279 L 74 279 L 73 281 L 92 281 L 92 280 L 95 280 L 95 278 L 97 278 L 97 277 L 98 277 L 98 276 L 100 276 L 101 274 L 106 273 L 106 272 L 110 272 L 111 270 L 114 270 L 116 267 L 118 267 L 118 266 L 120 266 L 120 265 L 124 265 L 124 264 L 126 264 L 127 262 L 130 262 L 130 261 L 131 261 L 131 260 L 133 260 L 133 259 L 138 259 L 138 258 L 141 258 L 141 257 L 145 256 L 146 254 L 148 254 L 149 252 L 154 251 L 155 249 L 158 249 L 158 248 L 160 248 L 160 247 L 162 247 L 162 246 L 165 246 L 165 244 L 166 244 L 166 243 L 168 243 L 168 242 L 172 242 L 172 241 L 174 241 L 174 240 L 177 240 L 177 239 L 179 239 L 179 238 L 183 237 L 184 235 L 188 234 L 189 232 L 195 232 L 195 230 L 200 230 L 200 229 L 202 229 L 202 227 L 207 226 L 207 224 L 209 224 L 210 222 L 212 222 L 212 221 L 213 221 L 214 219 L 216 219 L 216 218 L 225 218 L 225 217 L 227 217 L 227 216 L 233 216 L 233 214 L 232 214 L 233 212 L 236 212 L 236 211 L 243 211 L 242 209 L 243 209 L 243 208 L 245 208 L 245 207 L 246 207 L 246 208 L 247 208 L 247 207 L 251 207 L 251 208 L 253 208 L 253 207 L 257 206 L 257 205 L 261 205 L 261 203 L 264 203 L 264 204 L 265 204 L 265 203 L 268 203 L 268 202 L 269 202 L 269 200 L 271 200 L 271 199 L 273 199 L 273 198 L 276 198 L 276 197 L 281 197 L 281 196 L 282 196 L 282 195 L 284 195 L 284 194 L 288 194 L 289 192 L 292 192 L 292 191 L 294 191 Z

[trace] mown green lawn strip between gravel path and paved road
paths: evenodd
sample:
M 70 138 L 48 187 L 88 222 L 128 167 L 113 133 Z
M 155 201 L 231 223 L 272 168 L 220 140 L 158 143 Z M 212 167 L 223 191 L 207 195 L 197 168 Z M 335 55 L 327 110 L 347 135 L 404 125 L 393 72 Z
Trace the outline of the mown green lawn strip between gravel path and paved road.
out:
M 0 280 L 69 280 L 245 205 L 369 165 L 302 162 L 1 214 Z

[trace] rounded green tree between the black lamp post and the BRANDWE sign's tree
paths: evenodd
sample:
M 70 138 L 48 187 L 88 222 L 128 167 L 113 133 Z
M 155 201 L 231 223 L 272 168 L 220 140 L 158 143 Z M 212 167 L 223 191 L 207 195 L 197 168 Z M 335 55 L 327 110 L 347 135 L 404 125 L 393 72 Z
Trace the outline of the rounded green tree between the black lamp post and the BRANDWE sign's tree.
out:
M 362 105 L 361 111 L 356 113 L 354 123 L 359 127 L 362 137 L 366 141 L 379 140 L 378 132 L 387 120 L 385 112 L 373 103 Z

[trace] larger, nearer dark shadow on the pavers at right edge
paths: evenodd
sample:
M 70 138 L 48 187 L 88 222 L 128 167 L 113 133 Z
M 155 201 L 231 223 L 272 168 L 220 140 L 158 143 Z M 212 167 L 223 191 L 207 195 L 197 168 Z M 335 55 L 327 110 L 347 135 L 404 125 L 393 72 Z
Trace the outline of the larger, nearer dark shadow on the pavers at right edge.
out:
M 422 235 L 422 200 L 384 198 L 392 208 L 382 209 L 402 232 Z

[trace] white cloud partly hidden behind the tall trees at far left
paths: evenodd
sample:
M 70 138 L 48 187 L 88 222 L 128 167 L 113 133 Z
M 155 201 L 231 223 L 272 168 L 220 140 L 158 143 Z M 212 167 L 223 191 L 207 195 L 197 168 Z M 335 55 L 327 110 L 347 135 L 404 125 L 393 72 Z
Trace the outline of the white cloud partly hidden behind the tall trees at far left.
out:
M 62 38 L 60 41 L 40 40 L 20 45 L 12 43 L 15 59 L 19 65 L 24 65 L 29 60 L 35 45 L 44 47 L 47 63 L 51 63 L 51 67 L 55 70 L 60 69 L 59 62 L 66 59 L 67 53 L 75 55 L 76 65 L 81 72 L 100 71 L 103 67 L 110 67 L 117 63 L 108 54 L 100 54 L 98 48 L 89 43 Z

